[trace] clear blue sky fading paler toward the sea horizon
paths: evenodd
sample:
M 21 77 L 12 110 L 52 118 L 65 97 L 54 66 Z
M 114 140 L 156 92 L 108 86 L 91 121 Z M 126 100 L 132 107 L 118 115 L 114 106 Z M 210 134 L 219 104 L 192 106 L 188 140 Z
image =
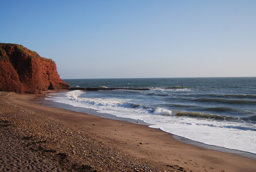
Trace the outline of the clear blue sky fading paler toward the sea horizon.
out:
M 256 0 L 1 0 L 0 42 L 62 79 L 256 76 Z

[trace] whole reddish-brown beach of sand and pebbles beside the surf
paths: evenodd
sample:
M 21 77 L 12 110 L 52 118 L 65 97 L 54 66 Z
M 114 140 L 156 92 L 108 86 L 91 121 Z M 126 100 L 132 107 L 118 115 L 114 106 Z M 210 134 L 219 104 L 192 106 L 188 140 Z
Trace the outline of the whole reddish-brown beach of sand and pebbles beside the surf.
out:
M 253 172 L 256 160 L 184 144 L 146 125 L 0 92 L 0 171 Z

